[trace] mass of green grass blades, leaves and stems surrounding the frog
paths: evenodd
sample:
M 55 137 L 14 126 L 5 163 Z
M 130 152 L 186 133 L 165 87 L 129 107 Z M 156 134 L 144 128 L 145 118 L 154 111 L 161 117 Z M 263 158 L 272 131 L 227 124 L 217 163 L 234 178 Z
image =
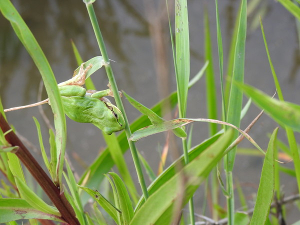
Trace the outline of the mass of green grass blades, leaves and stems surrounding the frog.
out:
M 296 19 L 300 19 L 300 9 L 296 3 L 290 0 L 278 0 Z M 220 27 L 220 18 L 218 11 L 218 1 L 215 0 L 216 11 L 216 35 L 219 60 L 219 77 L 221 92 L 222 120 L 217 118 L 217 93 L 216 78 L 213 71 L 213 48 L 211 41 L 209 24 L 209 13 L 204 11 L 204 55 L 205 64 L 189 80 L 189 24 L 187 0 L 175 1 L 175 28 L 172 31 L 172 21 L 169 20 L 170 39 L 173 49 L 174 71 L 176 76 L 177 89 L 165 99 L 159 101 L 152 108 L 147 108 L 142 103 L 136 101 L 134 97 L 125 92 L 126 99 L 133 107 L 141 112 L 141 116 L 129 124 L 122 100 L 118 93 L 116 80 L 114 78 L 110 60 L 105 48 L 104 40 L 97 22 L 96 14 L 93 8 L 94 0 L 83 1 L 90 21 L 93 27 L 95 38 L 97 40 L 101 56 L 95 56 L 83 63 L 82 58 L 74 42 L 71 42 L 77 67 L 74 75 L 78 73 L 81 63 L 83 67 L 92 64 L 88 70 L 85 80 L 87 89 L 95 89 L 90 75 L 100 67 L 104 67 L 111 90 L 115 97 L 117 107 L 124 115 L 126 123 L 125 130 L 118 136 L 115 134 L 104 135 L 107 147 L 100 152 L 94 162 L 86 168 L 79 181 L 74 175 L 70 163 L 65 161 L 64 149 L 66 144 L 66 127 L 64 118 L 64 109 L 61 104 L 60 94 L 57 83 L 51 67 L 35 40 L 33 34 L 11 4 L 9 0 L 0 2 L 0 11 L 3 16 L 11 23 L 11 26 L 33 59 L 43 79 L 50 106 L 53 112 L 55 131 L 49 130 L 49 149 L 45 147 L 42 137 L 42 129 L 36 118 L 34 119 L 41 155 L 44 167 L 48 170 L 50 177 L 46 173 L 40 173 L 32 169 L 28 164 L 37 163 L 32 158 L 23 153 L 22 144 L 14 144 L 19 141 L 13 134 L 13 128 L 5 128 L 6 117 L 3 112 L 3 106 L 0 101 L 0 171 L 7 178 L 1 180 L 0 188 L 0 223 L 10 222 L 16 224 L 15 220 L 29 219 L 30 224 L 37 224 L 37 219 L 49 219 L 69 224 L 195 224 L 193 195 L 208 175 L 213 171 L 212 189 L 215 199 L 212 200 L 213 219 L 225 216 L 228 224 L 270 224 L 268 218 L 270 214 L 271 202 L 274 190 L 277 191 L 276 197 L 279 198 L 280 192 L 280 173 L 283 171 L 290 176 L 295 176 L 300 191 L 300 159 L 298 146 L 293 131 L 300 131 L 300 105 L 284 101 L 282 90 L 277 79 L 270 52 L 268 51 L 267 41 L 264 34 L 262 21 L 260 20 L 262 38 L 265 44 L 266 54 L 269 60 L 269 66 L 274 79 L 274 85 L 278 92 L 279 100 L 268 96 L 262 91 L 243 83 L 244 80 L 244 59 L 246 42 L 246 23 L 247 23 L 247 1 L 241 0 L 238 9 L 235 27 L 233 30 L 231 45 L 229 49 L 227 63 L 226 89 L 223 89 L 223 46 Z M 250 2 L 251 4 L 257 2 Z M 106 24 L 101 24 L 105 26 Z M 172 35 L 174 33 L 175 42 Z M 206 73 L 206 110 L 209 118 L 185 118 L 187 107 L 188 89 L 202 75 Z M 250 99 L 242 109 L 243 93 Z M 267 151 L 264 152 L 258 144 L 247 134 L 248 130 L 243 131 L 239 128 L 240 120 L 247 109 L 250 107 L 251 100 L 261 109 L 263 109 L 274 121 L 286 130 L 288 145 L 283 141 L 277 140 L 276 128 L 269 138 Z M 167 103 L 166 103 L 167 102 Z M 166 121 L 163 119 L 165 105 L 168 104 L 173 109 L 178 104 L 178 118 Z M 205 105 L 205 104 L 203 104 Z M 209 137 L 191 146 L 191 135 L 194 129 L 185 132 L 185 125 L 193 122 L 209 122 Z M 256 121 L 256 120 L 255 120 Z M 218 125 L 224 129 L 218 130 Z M 232 128 L 228 128 L 233 127 Z M 133 132 L 131 132 L 131 130 Z M 148 163 L 135 146 L 135 141 L 148 135 L 171 130 L 182 141 L 182 155 L 174 158 L 173 161 L 164 168 L 157 176 L 153 168 Z M 257 197 L 253 214 L 250 216 L 244 212 L 236 212 L 234 206 L 233 191 L 233 167 L 235 160 L 235 146 L 241 140 L 240 136 L 246 137 L 259 151 L 255 155 L 264 155 L 263 166 L 260 174 L 260 182 L 257 190 Z M 12 135 L 13 134 L 13 135 Z M 21 143 L 21 142 L 17 142 Z M 141 146 L 142 148 L 142 146 Z M 293 159 L 295 169 L 280 166 L 277 159 L 277 148 Z M 134 163 L 134 174 L 129 171 L 128 164 L 124 159 L 124 153 L 130 149 Z M 251 149 L 252 151 L 252 149 Z M 240 150 L 248 156 L 253 152 Z M 258 153 L 257 153 L 258 152 Z M 263 154 L 261 154 L 263 153 Z M 48 158 L 49 155 L 49 158 Z M 32 156 L 32 155 L 31 155 Z M 225 179 L 222 180 L 222 174 L 217 163 L 224 158 Z M 32 161 L 30 161 L 32 160 Z M 140 161 L 146 170 L 151 183 L 146 185 L 141 169 Z M 45 202 L 38 191 L 31 188 L 30 180 L 23 171 L 21 162 L 28 165 L 28 170 L 33 177 L 39 181 L 42 174 L 48 186 L 43 187 L 44 192 L 49 196 L 52 206 Z M 27 163 L 25 163 L 27 162 Z M 28 163 L 29 162 L 29 163 Z M 65 165 L 65 166 L 63 166 Z M 112 172 L 113 166 L 116 166 L 118 173 Z M 36 167 L 35 167 L 36 168 Z M 63 170 L 65 168 L 65 170 Z M 213 169 L 214 168 L 214 169 Z M 141 188 L 141 196 L 138 195 L 138 188 L 133 180 L 137 174 L 138 182 Z M 63 179 L 62 179 L 63 175 Z M 103 179 L 109 186 L 108 193 L 103 193 Z M 28 184 L 29 183 L 29 184 Z M 206 182 L 208 185 L 208 182 Z M 205 187 L 206 187 L 205 184 Z M 242 210 L 248 210 L 242 187 L 238 182 L 235 183 L 239 202 Z M 101 188 L 100 191 L 91 188 Z M 103 191 L 103 192 L 102 192 Z M 226 210 L 218 205 L 218 195 L 222 192 L 227 199 Z M 57 195 L 58 198 L 52 197 Z M 209 196 L 208 196 L 209 197 Z M 208 198 L 207 197 L 207 198 Z M 92 207 L 86 212 L 86 202 L 89 198 L 94 200 Z M 213 198 L 213 197 L 212 197 Z M 209 199 L 211 200 L 211 199 Z M 189 221 L 186 222 L 185 215 L 182 215 L 182 209 L 189 204 Z M 205 205 L 206 202 L 202 203 Z M 197 202 L 197 205 L 199 203 Z M 273 209 L 274 210 L 274 209 Z M 205 208 L 202 209 L 205 211 Z M 183 213 L 184 214 L 184 213 Z M 275 218 L 276 220 L 276 218 Z M 273 218 L 272 218 L 273 222 Z

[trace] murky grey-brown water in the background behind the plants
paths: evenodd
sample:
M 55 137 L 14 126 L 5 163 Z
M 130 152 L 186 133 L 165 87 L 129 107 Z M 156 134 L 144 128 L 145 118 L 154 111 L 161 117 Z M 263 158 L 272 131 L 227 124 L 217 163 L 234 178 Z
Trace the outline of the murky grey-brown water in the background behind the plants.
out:
M 97 43 L 92 32 L 85 5 L 79 1 L 12 1 L 35 35 L 41 48 L 54 71 L 57 82 L 64 81 L 72 75 L 77 67 L 72 53 L 70 40 L 77 45 L 83 60 L 99 55 Z M 230 36 L 234 25 L 234 18 L 238 8 L 237 0 L 220 0 L 219 12 L 223 35 L 224 64 Z M 162 6 L 161 6 L 162 5 Z M 209 11 L 210 28 L 214 50 L 214 71 L 218 80 L 218 61 L 215 31 L 214 1 L 189 0 L 189 31 L 190 31 L 190 71 L 191 77 L 204 63 L 203 47 L 203 7 Z M 96 1 L 94 8 L 105 40 L 109 57 L 116 61 L 112 68 L 118 87 L 142 102 L 151 106 L 166 92 L 175 89 L 175 77 L 172 67 L 172 56 L 169 41 L 169 30 L 166 13 L 161 8 L 164 1 L 103 0 Z M 157 9 L 159 8 L 159 10 Z M 275 91 L 272 75 L 269 69 L 261 31 L 258 26 L 258 15 L 263 16 L 264 30 L 268 41 L 269 51 L 274 64 L 283 95 L 286 100 L 300 103 L 298 98 L 299 78 L 299 42 L 296 34 L 294 17 L 291 16 L 278 2 L 272 0 L 261 2 L 249 15 L 248 32 L 245 55 L 245 82 L 273 94 Z M 161 16 L 161 20 L 156 19 Z M 153 26 L 151 26 L 153 25 Z M 152 27 L 151 32 L 149 27 Z M 25 105 L 37 101 L 40 75 L 14 34 L 10 24 L 0 17 L 0 96 L 5 108 Z M 159 43 L 159 37 L 153 39 L 153 33 L 160 30 L 166 39 Z M 153 41 L 155 40 L 155 41 Z M 153 43 L 155 43 L 153 45 Z M 158 46 L 155 48 L 155 46 Z M 160 47 L 159 47 L 160 46 Z M 162 46 L 162 47 L 161 47 Z M 165 51 L 154 51 L 163 49 Z M 156 53 L 155 53 L 156 52 Z M 158 53 L 157 53 L 158 52 Z M 160 57 L 165 54 L 165 57 Z M 163 56 L 163 55 L 162 55 Z M 162 62 L 162 63 L 160 63 Z M 166 63 L 165 66 L 163 64 Z M 159 75 L 157 75 L 157 72 Z M 92 76 L 97 89 L 106 88 L 108 82 L 104 70 Z M 217 81 L 217 85 L 218 81 Z M 163 89 L 164 91 L 162 91 Z M 43 94 L 43 97 L 45 95 Z M 220 98 L 220 94 L 218 95 Z M 139 115 L 123 99 L 129 121 Z M 49 106 L 44 106 L 46 114 L 51 116 Z M 218 105 L 220 108 L 220 104 Z M 255 106 L 251 106 L 249 113 L 242 121 L 245 127 L 258 113 Z M 32 116 L 36 116 L 44 126 L 37 108 L 23 109 L 7 113 L 8 121 L 16 130 L 29 141 L 38 146 L 35 125 Z M 206 117 L 204 78 L 190 89 L 188 96 L 187 117 Z M 271 119 L 263 115 L 252 128 L 250 135 L 263 147 L 267 146 L 267 133 L 276 126 Z M 89 164 L 96 157 L 97 152 L 105 143 L 99 138 L 100 132 L 91 124 L 79 124 L 67 120 L 68 133 L 67 151 L 76 152 L 79 157 Z M 43 130 L 44 142 L 47 142 L 48 131 Z M 195 124 L 193 143 L 207 137 L 207 124 Z M 284 132 L 279 132 L 285 141 Z M 145 155 L 153 168 L 157 168 L 159 161 L 158 149 L 163 145 L 164 135 L 156 134 L 137 142 L 137 147 Z M 181 144 L 179 144 L 181 146 Z M 241 145 L 252 147 L 245 142 Z M 180 147 L 179 147 L 180 148 Z M 37 154 L 37 153 L 35 153 Z M 130 155 L 126 153 L 129 165 L 132 165 Z M 73 164 L 79 173 L 83 170 L 76 160 Z M 261 158 L 237 156 L 235 175 L 244 184 L 247 197 L 255 193 L 258 184 Z M 257 168 L 258 167 L 258 168 Z M 133 169 L 133 166 L 131 166 Z M 257 170 L 259 169 L 259 170 Z M 156 169 L 154 169 L 156 170 Z M 133 171 L 134 173 L 134 171 Z M 135 173 L 134 173 L 135 174 Z M 286 195 L 296 191 L 296 184 L 286 175 L 282 175 Z M 197 194 L 198 196 L 201 193 Z M 201 204 L 199 204 L 201 205 Z

